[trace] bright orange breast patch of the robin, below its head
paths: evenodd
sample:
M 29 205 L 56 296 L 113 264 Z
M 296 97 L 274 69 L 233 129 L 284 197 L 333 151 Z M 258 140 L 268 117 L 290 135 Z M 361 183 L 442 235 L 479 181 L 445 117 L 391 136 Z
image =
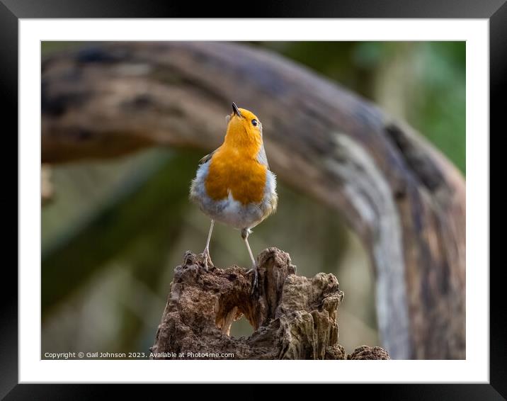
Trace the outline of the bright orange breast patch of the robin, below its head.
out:
M 222 145 L 213 154 L 206 178 L 210 198 L 221 200 L 229 196 L 246 205 L 261 203 L 266 186 L 267 168 L 257 162 L 255 149 L 237 149 Z

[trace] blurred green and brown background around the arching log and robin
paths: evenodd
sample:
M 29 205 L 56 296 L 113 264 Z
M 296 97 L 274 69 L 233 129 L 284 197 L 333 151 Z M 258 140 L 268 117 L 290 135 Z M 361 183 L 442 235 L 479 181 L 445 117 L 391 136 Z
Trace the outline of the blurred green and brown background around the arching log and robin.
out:
M 406 120 L 465 175 L 465 42 L 244 45 L 305 64 Z M 44 42 L 42 57 L 80 46 L 86 43 Z M 203 155 L 154 148 L 117 159 L 42 166 L 48 192 L 42 199 L 52 193 L 42 205 L 42 292 L 52 294 L 50 301 L 42 299 L 42 357 L 148 352 L 174 267 L 187 249 L 200 253 L 205 245 L 210 221 L 188 202 Z M 290 253 L 300 275 L 334 273 L 345 293 L 339 342 L 348 352 L 362 344 L 382 345 L 373 271 L 358 238 L 340 215 L 312 198 L 283 182 L 278 192 L 278 212 L 250 237 L 254 254 L 275 246 Z M 90 247 L 91 237 L 99 248 Z M 223 225 L 215 226 L 210 253 L 215 266 L 250 266 L 239 232 Z M 73 266 L 73 260 L 79 264 Z M 60 269 L 74 267 L 72 281 L 62 283 Z M 244 318 L 232 325 L 233 336 L 251 332 Z

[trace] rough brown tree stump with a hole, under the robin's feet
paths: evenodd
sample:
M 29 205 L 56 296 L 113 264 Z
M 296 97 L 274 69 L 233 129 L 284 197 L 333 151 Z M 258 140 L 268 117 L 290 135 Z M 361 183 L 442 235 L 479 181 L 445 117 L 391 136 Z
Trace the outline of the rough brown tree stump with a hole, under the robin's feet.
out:
M 203 256 L 187 252 L 175 269 L 151 358 L 389 359 L 380 347 L 358 347 L 347 356 L 338 344 L 343 291 L 333 274 L 297 276 L 289 254 L 277 248 L 261 252 L 258 266 L 252 293 L 253 272 L 206 271 Z M 255 332 L 231 337 L 242 315 Z

